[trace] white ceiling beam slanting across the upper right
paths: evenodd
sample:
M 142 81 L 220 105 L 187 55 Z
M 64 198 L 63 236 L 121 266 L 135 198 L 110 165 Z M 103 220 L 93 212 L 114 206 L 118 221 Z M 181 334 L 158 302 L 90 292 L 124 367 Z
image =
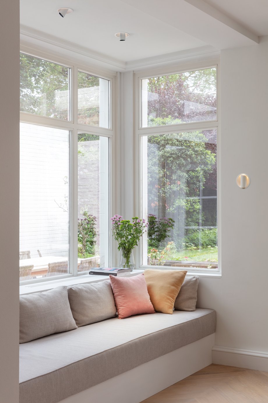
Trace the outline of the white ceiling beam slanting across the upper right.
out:
M 250 46 L 258 36 L 203 0 L 121 0 L 151 17 L 216 49 Z M 171 38 L 172 40 L 172 38 Z

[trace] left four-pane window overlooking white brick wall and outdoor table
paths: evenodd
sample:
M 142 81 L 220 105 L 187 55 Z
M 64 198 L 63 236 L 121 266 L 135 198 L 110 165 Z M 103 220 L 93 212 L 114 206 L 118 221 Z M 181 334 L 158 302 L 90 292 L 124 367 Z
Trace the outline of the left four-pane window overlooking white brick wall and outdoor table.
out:
M 20 64 L 20 280 L 108 266 L 111 79 L 23 53 Z

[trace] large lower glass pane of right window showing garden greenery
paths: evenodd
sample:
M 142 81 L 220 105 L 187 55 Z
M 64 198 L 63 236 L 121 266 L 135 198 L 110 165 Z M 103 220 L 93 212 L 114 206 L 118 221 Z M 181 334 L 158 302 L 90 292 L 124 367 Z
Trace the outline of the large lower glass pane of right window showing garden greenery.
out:
M 216 140 L 214 129 L 143 137 L 143 265 L 217 268 Z

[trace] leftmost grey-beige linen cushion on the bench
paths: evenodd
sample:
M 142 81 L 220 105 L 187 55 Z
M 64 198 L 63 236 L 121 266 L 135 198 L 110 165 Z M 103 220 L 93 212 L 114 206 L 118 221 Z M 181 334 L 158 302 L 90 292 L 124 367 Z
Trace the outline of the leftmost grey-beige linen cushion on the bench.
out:
M 66 286 L 20 295 L 20 343 L 76 328 Z

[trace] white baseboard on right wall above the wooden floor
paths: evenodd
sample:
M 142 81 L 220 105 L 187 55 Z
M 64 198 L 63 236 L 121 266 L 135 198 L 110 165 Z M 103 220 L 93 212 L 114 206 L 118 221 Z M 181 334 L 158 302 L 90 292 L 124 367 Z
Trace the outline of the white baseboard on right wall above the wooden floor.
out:
M 214 346 L 212 363 L 268 372 L 268 353 Z

